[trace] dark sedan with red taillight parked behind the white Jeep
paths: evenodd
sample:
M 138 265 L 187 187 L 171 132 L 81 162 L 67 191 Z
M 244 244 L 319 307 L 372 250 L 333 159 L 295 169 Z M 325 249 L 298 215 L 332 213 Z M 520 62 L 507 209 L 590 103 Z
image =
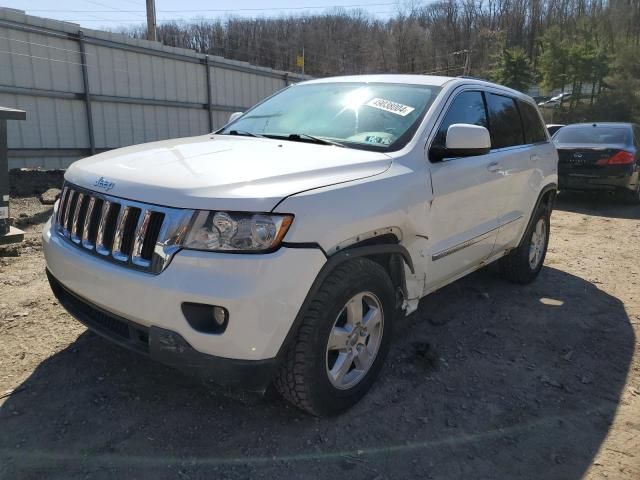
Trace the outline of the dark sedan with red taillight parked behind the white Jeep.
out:
M 579 123 L 553 137 L 560 190 L 610 191 L 640 204 L 640 128 L 631 123 Z

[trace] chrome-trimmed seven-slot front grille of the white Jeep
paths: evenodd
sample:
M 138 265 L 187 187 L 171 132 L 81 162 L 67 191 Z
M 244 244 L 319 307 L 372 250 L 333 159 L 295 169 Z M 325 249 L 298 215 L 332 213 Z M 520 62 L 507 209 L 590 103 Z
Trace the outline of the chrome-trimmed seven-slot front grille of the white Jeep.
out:
M 160 273 L 180 249 L 192 210 L 167 208 L 65 184 L 54 222 L 58 234 L 97 257 Z

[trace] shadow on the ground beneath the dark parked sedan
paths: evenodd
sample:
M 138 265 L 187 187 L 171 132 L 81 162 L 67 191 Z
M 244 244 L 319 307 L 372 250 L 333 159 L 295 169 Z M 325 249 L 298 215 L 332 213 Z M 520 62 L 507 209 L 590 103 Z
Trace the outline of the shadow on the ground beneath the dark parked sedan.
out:
M 625 204 L 606 192 L 561 192 L 554 208 L 582 215 L 640 220 L 640 206 Z

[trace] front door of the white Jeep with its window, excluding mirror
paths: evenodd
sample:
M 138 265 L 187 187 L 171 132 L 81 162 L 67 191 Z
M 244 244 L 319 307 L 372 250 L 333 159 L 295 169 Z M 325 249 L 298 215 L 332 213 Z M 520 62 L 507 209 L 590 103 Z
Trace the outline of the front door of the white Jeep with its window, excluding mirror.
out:
M 461 91 L 444 109 L 431 147 L 444 147 L 454 123 L 488 126 L 483 93 Z M 492 172 L 493 155 L 431 161 L 433 202 L 429 209 L 426 286 L 433 290 L 486 260 L 496 239 L 500 176 Z

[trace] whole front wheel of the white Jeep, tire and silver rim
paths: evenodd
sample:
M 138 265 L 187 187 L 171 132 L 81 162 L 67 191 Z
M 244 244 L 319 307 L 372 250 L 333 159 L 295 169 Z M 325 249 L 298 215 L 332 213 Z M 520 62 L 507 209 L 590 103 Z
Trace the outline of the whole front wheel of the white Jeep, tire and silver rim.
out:
M 317 416 L 354 405 L 382 368 L 394 313 L 394 288 L 384 268 L 364 258 L 338 266 L 304 314 L 275 379 L 280 394 Z

